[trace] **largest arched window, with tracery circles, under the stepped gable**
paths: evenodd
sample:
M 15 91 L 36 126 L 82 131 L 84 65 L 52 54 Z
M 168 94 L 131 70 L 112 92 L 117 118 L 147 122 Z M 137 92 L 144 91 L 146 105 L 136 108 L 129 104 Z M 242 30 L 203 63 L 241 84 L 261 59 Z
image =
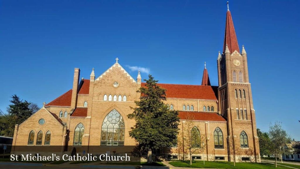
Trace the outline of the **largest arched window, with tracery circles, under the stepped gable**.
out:
M 115 109 L 107 114 L 102 123 L 101 146 L 124 146 L 125 124 Z

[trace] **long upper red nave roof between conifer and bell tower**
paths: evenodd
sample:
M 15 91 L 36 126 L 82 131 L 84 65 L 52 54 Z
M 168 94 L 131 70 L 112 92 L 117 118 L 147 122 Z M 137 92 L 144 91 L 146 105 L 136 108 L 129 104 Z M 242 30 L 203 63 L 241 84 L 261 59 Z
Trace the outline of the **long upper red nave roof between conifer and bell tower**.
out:
M 142 83 L 142 87 L 145 85 L 146 83 Z M 217 86 L 162 83 L 157 85 L 167 90 L 167 98 L 217 100 Z

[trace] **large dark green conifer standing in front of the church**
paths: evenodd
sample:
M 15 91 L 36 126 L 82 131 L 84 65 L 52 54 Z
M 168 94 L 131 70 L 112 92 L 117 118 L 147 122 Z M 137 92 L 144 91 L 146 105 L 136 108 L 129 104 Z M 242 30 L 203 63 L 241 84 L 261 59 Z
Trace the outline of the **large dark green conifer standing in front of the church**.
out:
M 148 163 L 152 163 L 152 151 L 177 143 L 179 117 L 177 111 L 169 110 L 164 104 L 166 89 L 157 85 L 157 80 L 149 75 L 145 79 L 146 88 L 141 87 L 140 101 L 128 118 L 136 121 L 129 135 L 137 140 L 139 148 L 148 152 Z

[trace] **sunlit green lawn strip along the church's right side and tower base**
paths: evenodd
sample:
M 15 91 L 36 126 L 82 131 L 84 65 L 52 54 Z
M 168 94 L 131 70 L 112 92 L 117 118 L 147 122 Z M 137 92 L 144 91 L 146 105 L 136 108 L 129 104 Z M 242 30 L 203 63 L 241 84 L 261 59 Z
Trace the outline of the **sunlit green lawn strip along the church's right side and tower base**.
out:
M 182 161 L 171 161 L 169 162 L 169 164 L 173 165 L 174 167 L 193 167 L 193 168 L 275 169 L 275 164 L 235 163 L 235 166 L 233 166 L 233 162 L 227 162 L 227 161 L 205 161 L 205 165 L 203 165 L 203 161 L 193 161 L 192 165 Z M 290 169 L 290 168 L 277 165 L 277 169 Z

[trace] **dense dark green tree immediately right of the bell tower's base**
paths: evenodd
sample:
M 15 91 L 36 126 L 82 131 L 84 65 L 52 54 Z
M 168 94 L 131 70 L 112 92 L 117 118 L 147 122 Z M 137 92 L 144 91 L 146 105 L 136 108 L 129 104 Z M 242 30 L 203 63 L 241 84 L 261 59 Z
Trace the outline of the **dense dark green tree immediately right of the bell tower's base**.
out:
M 269 146 L 270 146 L 270 138 L 267 132 L 260 131 L 257 129 L 257 136 L 259 138 L 259 152 L 260 155 L 270 155 Z

